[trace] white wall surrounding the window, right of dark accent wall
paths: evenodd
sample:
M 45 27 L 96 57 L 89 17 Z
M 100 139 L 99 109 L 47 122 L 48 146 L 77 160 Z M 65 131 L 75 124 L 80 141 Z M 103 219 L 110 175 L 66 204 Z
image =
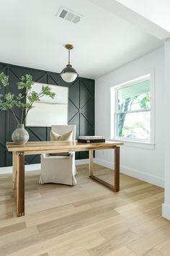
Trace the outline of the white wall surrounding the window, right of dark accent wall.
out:
M 155 69 L 156 130 L 155 149 L 128 145 L 121 147 L 121 171 L 146 182 L 164 187 L 164 48 L 158 48 L 115 71 L 99 77 L 95 87 L 96 135 L 110 139 L 110 88 L 122 82 L 133 80 Z M 112 166 L 113 153 L 98 151 L 96 162 Z

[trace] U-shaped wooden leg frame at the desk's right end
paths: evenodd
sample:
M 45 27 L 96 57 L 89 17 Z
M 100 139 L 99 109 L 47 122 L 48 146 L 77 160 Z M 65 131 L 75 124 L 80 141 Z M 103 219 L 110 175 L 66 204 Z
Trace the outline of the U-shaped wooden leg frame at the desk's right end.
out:
M 93 150 L 90 150 L 93 151 Z M 89 178 L 94 179 L 96 182 L 99 182 L 103 184 L 105 187 L 109 187 L 109 189 L 112 189 L 115 192 L 120 191 L 120 147 L 115 147 L 115 171 L 113 176 L 113 183 L 109 184 L 108 182 L 104 182 L 104 180 L 99 179 L 97 176 L 94 176 L 92 171 L 92 163 L 93 163 L 93 154 L 89 151 Z

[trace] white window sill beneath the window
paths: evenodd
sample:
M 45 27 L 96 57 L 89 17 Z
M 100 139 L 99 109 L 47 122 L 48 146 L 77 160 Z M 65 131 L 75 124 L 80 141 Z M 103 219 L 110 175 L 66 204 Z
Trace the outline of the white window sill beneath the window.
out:
M 120 141 L 124 142 L 124 146 L 127 147 L 132 147 L 132 148 L 146 148 L 149 150 L 155 150 L 155 144 L 150 143 L 150 142 L 140 142 L 140 141 L 135 141 L 135 140 L 122 140 L 122 139 L 110 139 L 110 141 Z

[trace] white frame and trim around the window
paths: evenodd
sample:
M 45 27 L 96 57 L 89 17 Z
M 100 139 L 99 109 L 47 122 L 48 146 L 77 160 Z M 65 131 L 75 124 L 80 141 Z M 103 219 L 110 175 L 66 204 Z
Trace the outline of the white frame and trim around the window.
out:
M 110 127 L 110 139 L 111 140 L 119 140 L 122 142 L 127 142 L 125 145 L 133 145 L 134 143 L 140 147 L 141 145 L 144 145 L 143 148 L 145 148 L 145 145 L 151 145 L 151 149 L 154 149 L 155 145 L 155 72 L 154 69 L 146 75 L 143 75 L 142 77 L 138 77 L 134 80 L 130 80 L 128 82 L 123 82 L 120 85 L 115 85 L 110 88 L 110 107 L 111 107 L 111 127 Z M 130 85 L 134 85 L 138 82 L 143 82 L 145 80 L 150 80 L 150 95 L 151 95 L 151 136 L 150 140 L 140 140 L 140 139 L 130 139 L 130 138 L 124 138 L 124 137 L 117 137 L 116 136 L 116 114 L 117 114 L 117 91 L 120 88 L 125 88 Z M 144 110 L 146 111 L 146 110 Z M 148 111 L 148 110 L 147 110 Z M 132 112 L 138 112 L 138 111 L 132 111 Z M 140 111 L 139 111 L 140 112 Z M 153 146 L 153 147 L 152 147 Z

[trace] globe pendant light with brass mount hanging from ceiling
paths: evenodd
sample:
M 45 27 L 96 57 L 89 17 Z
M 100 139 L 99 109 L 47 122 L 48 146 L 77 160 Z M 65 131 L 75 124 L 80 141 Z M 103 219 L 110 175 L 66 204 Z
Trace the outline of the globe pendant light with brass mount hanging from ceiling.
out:
M 61 77 L 65 82 L 73 82 L 79 75 L 70 64 L 70 51 L 73 49 L 73 46 L 71 44 L 66 44 L 65 48 L 68 50 L 68 64 L 65 69 L 61 71 Z

